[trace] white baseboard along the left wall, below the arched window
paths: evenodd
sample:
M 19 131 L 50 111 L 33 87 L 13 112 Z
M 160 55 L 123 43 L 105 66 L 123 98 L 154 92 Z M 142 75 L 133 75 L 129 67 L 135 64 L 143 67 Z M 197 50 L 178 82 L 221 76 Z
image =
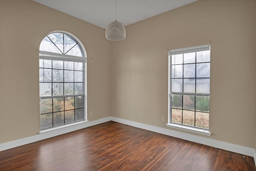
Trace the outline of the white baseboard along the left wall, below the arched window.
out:
M 4 151 L 6 149 L 11 149 L 11 148 L 18 147 L 18 146 L 25 145 L 25 144 L 29 144 L 29 143 L 34 143 L 36 141 L 40 141 L 40 140 L 47 139 L 47 138 L 50 138 L 50 137 L 55 137 L 55 136 L 58 136 L 58 135 L 62 135 L 64 133 L 69 133 L 69 132 L 76 131 L 76 130 L 79 130 L 79 129 L 83 129 L 83 128 L 86 128 L 86 127 L 90 127 L 90 126 L 93 126 L 93 125 L 98 125 L 100 123 L 111 121 L 110 119 L 111 119 L 110 117 L 104 117 L 102 119 L 98 119 L 98 120 L 95 120 L 95 121 L 82 122 L 82 123 L 78 123 L 78 124 L 75 124 L 75 125 L 70 125 L 70 126 L 67 126 L 67 127 L 63 127 L 63 128 L 60 128 L 60 129 L 54 129 L 54 130 L 51 130 L 51 131 L 42 132 L 42 133 L 30 136 L 30 137 L 25 137 L 25 138 L 22 138 L 22 139 L 9 141 L 9 142 L 6 142 L 6 143 L 1 143 L 0 144 L 0 151 Z

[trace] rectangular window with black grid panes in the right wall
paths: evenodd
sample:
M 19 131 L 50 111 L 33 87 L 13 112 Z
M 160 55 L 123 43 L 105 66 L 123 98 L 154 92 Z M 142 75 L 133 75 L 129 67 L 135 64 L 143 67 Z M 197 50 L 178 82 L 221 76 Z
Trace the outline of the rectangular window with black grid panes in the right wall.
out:
M 208 130 L 209 104 L 210 46 L 170 50 L 168 124 Z

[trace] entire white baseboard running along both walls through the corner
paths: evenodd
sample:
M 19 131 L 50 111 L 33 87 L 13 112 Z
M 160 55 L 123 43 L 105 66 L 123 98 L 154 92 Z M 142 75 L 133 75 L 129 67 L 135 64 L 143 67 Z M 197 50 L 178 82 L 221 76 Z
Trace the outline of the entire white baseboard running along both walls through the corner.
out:
M 47 131 L 47 132 L 43 132 L 37 135 L 33 135 L 30 137 L 25 137 L 22 139 L 17 139 L 14 141 L 9 141 L 6 143 L 1 143 L 0 144 L 0 151 L 6 150 L 6 149 L 11 149 L 14 147 L 18 147 L 21 145 L 25 145 L 25 144 L 29 144 L 29 143 L 33 143 L 36 141 L 40 141 L 42 139 L 47 139 L 50 137 L 54 137 L 57 135 L 61 135 L 64 133 L 68 133 L 68 132 L 72 132 L 72 131 L 76 131 L 78 129 L 83 129 L 86 127 L 90 127 L 93 125 L 98 125 L 100 123 L 104 123 L 107 121 L 115 121 L 118 123 L 123 123 L 126 125 L 130 125 L 133 127 L 138 127 L 141 129 L 146 129 L 149 131 L 153 131 L 153 132 L 157 132 L 157 133 L 162 133 L 164 135 L 169 135 L 172 137 L 177 137 L 180 139 L 185 139 L 188 141 L 192 141 L 192 142 L 196 142 L 196 143 L 200 143 L 200 144 L 204 144 L 204 145 L 209 145 L 211 147 L 216 147 L 216 148 L 220 148 L 220 149 L 224 149 L 224 150 L 228 150 L 228 151 L 233 151 L 235 153 L 240 153 L 243 155 L 248 155 L 251 157 L 254 157 L 254 161 L 256 163 L 256 151 L 254 148 L 250 148 L 250 147 L 245 147 L 242 145 L 237 145 L 237 144 L 232 144 L 232 143 L 227 143 L 224 141 L 218 141 L 218 140 L 214 140 L 214 139 L 210 139 L 208 137 L 202 137 L 202 136 L 197 136 L 197 135 L 193 135 L 190 133 L 183 133 L 180 131 L 176 131 L 176 130 L 172 130 L 172 129 L 167 129 L 167 128 L 161 128 L 161 127 L 156 127 L 156 126 L 152 126 L 152 125 L 147 125 L 144 123 L 138 123 L 138 122 L 134 122 L 134 121 L 129 121 L 126 119 L 120 119 L 117 117 L 104 117 L 102 119 L 98 119 L 95 121 L 88 121 L 88 122 L 83 122 L 83 123 L 79 123 L 76 125 L 71 125 L 68 127 L 63 127 L 61 129 L 54 129 L 52 131 Z

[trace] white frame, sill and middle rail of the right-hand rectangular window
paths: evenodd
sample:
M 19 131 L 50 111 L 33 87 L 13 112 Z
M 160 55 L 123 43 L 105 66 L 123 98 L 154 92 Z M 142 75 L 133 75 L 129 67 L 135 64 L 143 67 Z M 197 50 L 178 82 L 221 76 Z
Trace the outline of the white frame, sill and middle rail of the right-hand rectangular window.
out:
M 210 50 L 210 45 L 202 45 L 202 46 L 194 46 L 190 48 L 181 48 L 181 49 L 176 49 L 176 50 L 169 50 L 168 52 L 168 123 L 166 124 L 167 127 L 175 128 L 175 129 L 180 129 L 183 131 L 189 131 L 193 133 L 199 133 L 202 135 L 208 135 L 210 136 L 212 133 L 210 133 L 209 129 L 204 129 L 204 128 L 198 128 L 194 126 L 189 126 L 189 125 L 183 125 L 183 124 L 177 124 L 173 123 L 171 121 L 172 119 L 172 113 L 171 113 L 171 108 L 172 108 L 172 55 L 174 54 L 185 54 L 185 53 L 191 53 L 191 52 L 201 52 L 203 50 Z M 179 93 L 176 93 L 179 94 Z M 206 93 L 180 93 L 183 95 L 202 95 L 202 96 L 210 96 L 209 94 Z

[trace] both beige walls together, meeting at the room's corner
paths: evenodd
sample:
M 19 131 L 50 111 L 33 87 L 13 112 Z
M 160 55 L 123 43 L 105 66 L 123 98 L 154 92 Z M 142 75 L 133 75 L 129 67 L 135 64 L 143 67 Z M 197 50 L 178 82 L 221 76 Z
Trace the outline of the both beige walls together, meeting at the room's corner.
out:
M 200 0 L 126 26 L 126 40 L 109 42 L 104 29 L 32 0 L 1 0 L 0 143 L 40 131 L 38 48 L 63 30 L 87 52 L 90 121 L 112 115 L 164 128 L 166 48 L 211 43 L 210 138 L 255 147 L 255 9 L 255 0 Z

